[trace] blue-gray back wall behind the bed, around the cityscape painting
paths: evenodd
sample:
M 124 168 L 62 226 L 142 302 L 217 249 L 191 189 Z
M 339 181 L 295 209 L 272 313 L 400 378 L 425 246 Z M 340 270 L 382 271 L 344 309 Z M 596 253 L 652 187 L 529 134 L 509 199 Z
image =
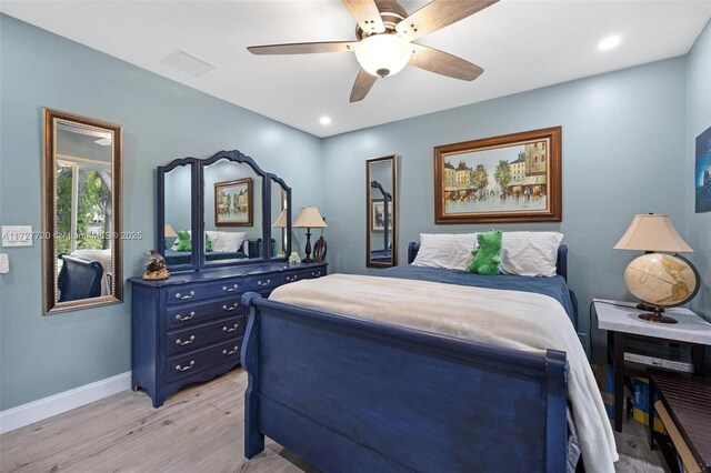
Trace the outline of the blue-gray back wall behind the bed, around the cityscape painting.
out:
M 612 246 L 632 217 L 668 213 L 684 231 L 685 68 L 685 58 L 675 58 L 326 139 L 331 270 L 365 272 L 364 161 L 400 154 L 401 263 L 420 232 L 560 231 L 579 331 L 588 332 L 593 295 L 631 299 L 623 273 L 637 254 Z M 554 125 L 563 128 L 562 222 L 434 224 L 433 147 Z

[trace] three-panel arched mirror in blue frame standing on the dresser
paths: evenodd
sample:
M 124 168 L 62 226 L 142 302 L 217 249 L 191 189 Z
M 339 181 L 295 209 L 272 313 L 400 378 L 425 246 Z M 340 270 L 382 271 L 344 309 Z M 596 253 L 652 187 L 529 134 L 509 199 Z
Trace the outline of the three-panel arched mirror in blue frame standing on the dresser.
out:
M 268 261 L 291 246 L 272 236 L 282 202 L 291 189 L 239 151 L 172 161 L 158 168 L 157 246 L 173 272 Z

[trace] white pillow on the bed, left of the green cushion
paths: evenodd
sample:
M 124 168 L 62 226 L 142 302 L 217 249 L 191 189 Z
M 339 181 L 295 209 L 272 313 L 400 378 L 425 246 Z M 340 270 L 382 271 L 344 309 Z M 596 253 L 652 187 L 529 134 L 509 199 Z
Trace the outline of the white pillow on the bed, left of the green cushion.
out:
M 478 233 L 420 233 L 420 250 L 413 266 L 467 271 Z

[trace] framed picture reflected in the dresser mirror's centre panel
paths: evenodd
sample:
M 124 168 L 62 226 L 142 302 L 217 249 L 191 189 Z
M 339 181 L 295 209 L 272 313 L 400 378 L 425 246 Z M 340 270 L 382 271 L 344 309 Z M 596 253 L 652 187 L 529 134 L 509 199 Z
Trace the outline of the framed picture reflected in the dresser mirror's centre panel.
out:
M 214 183 L 216 227 L 252 227 L 252 178 Z

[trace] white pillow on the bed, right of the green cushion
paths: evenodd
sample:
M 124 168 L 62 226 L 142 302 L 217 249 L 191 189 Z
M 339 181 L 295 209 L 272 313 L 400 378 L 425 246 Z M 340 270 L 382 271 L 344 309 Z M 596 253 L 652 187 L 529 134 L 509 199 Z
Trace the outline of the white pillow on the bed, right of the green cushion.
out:
M 503 232 L 499 269 L 503 274 L 553 278 L 562 239 L 557 232 Z

